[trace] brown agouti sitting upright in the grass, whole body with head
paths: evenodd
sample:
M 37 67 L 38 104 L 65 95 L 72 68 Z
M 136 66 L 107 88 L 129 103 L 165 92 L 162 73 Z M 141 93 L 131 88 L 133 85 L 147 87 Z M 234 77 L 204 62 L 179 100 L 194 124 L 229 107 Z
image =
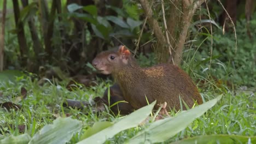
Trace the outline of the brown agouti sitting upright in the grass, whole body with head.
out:
M 168 108 L 180 110 L 179 97 L 183 109 L 183 101 L 189 107 L 192 107 L 195 101 L 202 104 L 197 87 L 182 69 L 167 63 L 141 68 L 125 46 L 119 46 L 118 51 L 99 53 L 92 65 L 102 74 L 112 74 L 123 92 L 124 99 L 135 109 L 147 105 L 147 100 L 149 103 L 156 100 L 158 105 L 166 102 Z

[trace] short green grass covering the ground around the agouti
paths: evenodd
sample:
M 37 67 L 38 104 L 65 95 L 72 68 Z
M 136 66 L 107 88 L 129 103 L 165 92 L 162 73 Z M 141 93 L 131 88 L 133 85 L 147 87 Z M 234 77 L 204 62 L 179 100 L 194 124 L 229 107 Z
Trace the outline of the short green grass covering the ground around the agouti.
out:
M 76 100 L 87 100 L 103 95 L 105 87 L 108 83 L 99 81 L 98 86 L 91 88 L 77 89 L 69 92 L 65 87 L 67 81 L 51 83 L 46 81 L 43 86 L 38 86 L 37 81 L 32 82 L 30 79 L 16 80 L 15 83 L 0 83 L 0 92 L 3 96 L 0 97 L 0 102 L 15 101 L 20 95 L 20 88 L 25 87 L 28 91 L 27 98 L 20 101 L 21 110 L 10 112 L 0 108 L 0 125 L 2 125 L 0 139 L 10 134 L 19 135 L 18 129 L 13 129 L 13 125 L 26 125 L 26 132 L 33 136 L 45 124 L 52 123 L 57 116 L 65 116 L 69 113 L 73 118 L 84 122 L 84 128 L 90 127 L 98 121 L 115 121 L 114 117 L 107 112 L 95 114 L 93 107 L 84 110 L 67 109 L 62 107 L 62 101 L 66 98 Z M 208 101 L 213 99 L 219 93 L 224 96 L 219 103 L 210 111 L 205 113 L 196 121 L 191 123 L 189 127 L 172 137 L 170 141 L 184 139 L 198 135 L 214 135 L 214 134 L 229 134 L 229 135 L 256 135 L 256 115 L 255 115 L 255 89 L 254 93 L 250 91 L 231 92 L 226 90 L 210 89 L 201 94 Z M 176 113 L 171 113 L 171 116 Z M 125 140 L 134 136 L 143 127 L 137 127 L 125 130 L 106 143 L 123 143 Z M 73 136 L 71 143 L 79 141 L 78 135 Z

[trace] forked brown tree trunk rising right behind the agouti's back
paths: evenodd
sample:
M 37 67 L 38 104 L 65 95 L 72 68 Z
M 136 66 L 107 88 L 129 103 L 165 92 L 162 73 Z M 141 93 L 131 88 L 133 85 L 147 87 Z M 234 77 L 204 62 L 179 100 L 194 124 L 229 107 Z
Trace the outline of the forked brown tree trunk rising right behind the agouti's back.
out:
M 154 35 L 158 40 L 155 46 L 155 52 L 158 56 L 160 63 L 167 62 L 169 59 L 173 59 L 173 63 L 179 65 L 182 59 L 183 47 L 188 35 L 190 22 L 193 18 L 195 10 L 205 2 L 204 0 L 170 0 L 170 10 L 167 11 L 169 17 L 167 17 L 167 29 L 165 33 L 168 33 L 168 37 L 164 36 L 162 29 L 158 25 L 153 17 L 152 5 L 149 5 L 147 0 L 140 0 L 144 9 L 144 13 L 148 17 L 148 24 L 153 29 Z M 164 14 L 164 13 L 163 13 Z M 165 16 L 165 15 L 163 15 Z M 165 21 L 164 21 L 165 22 Z M 170 41 L 170 45 L 168 45 Z M 167 49 L 169 47 L 169 49 Z M 172 47 L 172 49 L 170 49 Z

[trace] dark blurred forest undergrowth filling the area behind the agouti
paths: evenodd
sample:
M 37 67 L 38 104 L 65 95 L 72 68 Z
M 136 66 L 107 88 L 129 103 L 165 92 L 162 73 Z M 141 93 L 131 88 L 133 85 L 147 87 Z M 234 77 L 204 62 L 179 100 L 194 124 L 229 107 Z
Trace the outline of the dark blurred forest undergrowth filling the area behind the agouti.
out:
M 213 80 L 230 87 L 255 86 L 255 1 L 187 2 L 1 1 L 0 67 L 33 73 L 37 79 L 61 77 L 58 70 L 89 75 L 98 52 L 123 44 L 142 67 L 174 62 L 202 85 Z

